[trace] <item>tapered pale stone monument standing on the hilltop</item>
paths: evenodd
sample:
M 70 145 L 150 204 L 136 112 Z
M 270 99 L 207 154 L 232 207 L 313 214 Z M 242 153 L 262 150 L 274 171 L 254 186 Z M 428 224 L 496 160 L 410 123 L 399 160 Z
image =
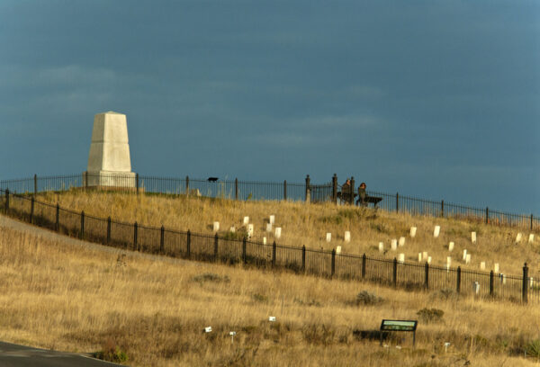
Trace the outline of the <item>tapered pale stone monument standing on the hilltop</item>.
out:
M 131 172 L 126 115 L 103 112 L 94 116 L 94 130 L 85 172 L 86 186 L 135 187 Z

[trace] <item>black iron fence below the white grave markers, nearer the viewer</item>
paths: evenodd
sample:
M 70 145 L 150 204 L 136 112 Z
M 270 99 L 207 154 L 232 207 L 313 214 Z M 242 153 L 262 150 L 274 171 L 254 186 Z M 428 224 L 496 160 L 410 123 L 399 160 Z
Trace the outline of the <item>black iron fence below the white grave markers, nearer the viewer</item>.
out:
M 244 238 L 231 239 L 154 228 L 135 223 L 86 215 L 35 200 L 32 195 L 0 190 L 0 211 L 42 228 L 106 246 L 186 259 L 251 264 L 288 269 L 322 277 L 378 282 L 418 290 L 446 290 L 478 297 L 527 302 L 540 300 L 540 286 L 528 277 L 446 268 L 429 264 L 398 262 L 367 255 L 337 254 L 294 246 L 264 244 Z

